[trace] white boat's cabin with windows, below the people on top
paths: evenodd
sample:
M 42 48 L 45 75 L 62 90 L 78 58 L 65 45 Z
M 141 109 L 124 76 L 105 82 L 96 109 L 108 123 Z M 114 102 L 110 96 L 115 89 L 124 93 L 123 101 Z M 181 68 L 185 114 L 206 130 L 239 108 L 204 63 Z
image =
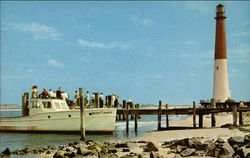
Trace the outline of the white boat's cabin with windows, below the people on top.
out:
M 43 112 L 55 112 L 55 111 L 67 111 L 69 106 L 65 100 L 62 99 L 29 99 L 29 114 L 33 115 L 36 113 Z

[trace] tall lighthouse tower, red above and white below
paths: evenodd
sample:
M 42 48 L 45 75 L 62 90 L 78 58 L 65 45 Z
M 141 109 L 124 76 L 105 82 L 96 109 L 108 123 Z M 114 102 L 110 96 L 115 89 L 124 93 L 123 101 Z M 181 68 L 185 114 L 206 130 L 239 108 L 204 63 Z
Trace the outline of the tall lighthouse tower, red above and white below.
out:
M 216 35 L 214 52 L 214 85 L 213 98 L 216 102 L 225 102 L 231 97 L 228 87 L 227 47 L 225 28 L 225 8 L 219 4 L 216 7 Z

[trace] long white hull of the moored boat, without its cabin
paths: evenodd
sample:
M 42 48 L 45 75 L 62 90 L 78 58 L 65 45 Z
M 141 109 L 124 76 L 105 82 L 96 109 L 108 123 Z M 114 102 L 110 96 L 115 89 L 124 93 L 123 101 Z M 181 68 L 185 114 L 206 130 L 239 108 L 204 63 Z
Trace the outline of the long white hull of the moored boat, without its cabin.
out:
M 85 131 L 113 132 L 115 119 L 115 108 L 85 109 Z M 80 110 L 44 112 L 26 117 L 1 118 L 0 131 L 80 132 Z

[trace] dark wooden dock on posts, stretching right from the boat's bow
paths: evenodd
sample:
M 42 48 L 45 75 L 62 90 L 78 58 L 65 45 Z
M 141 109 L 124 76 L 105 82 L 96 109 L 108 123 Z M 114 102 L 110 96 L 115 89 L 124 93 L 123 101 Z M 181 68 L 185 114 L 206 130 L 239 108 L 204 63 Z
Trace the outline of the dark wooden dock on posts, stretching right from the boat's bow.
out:
M 237 125 L 237 119 L 239 118 L 239 125 L 243 125 L 243 112 L 250 111 L 250 102 L 243 102 L 244 107 L 240 107 L 240 103 L 219 103 L 220 108 L 211 101 L 210 107 L 204 106 L 196 106 L 195 102 L 193 105 L 189 107 L 183 108 L 179 105 L 179 108 L 169 108 L 166 104 L 164 107 L 162 105 L 162 101 L 159 101 L 158 108 L 139 108 L 139 106 L 133 106 L 132 103 L 126 103 L 123 101 L 122 109 L 117 109 L 117 115 L 121 118 L 123 116 L 123 120 L 126 121 L 126 132 L 129 132 L 129 115 L 131 119 L 134 120 L 135 123 L 135 132 L 138 130 L 138 116 L 140 115 L 158 115 L 158 130 L 161 130 L 161 118 L 163 115 L 166 116 L 166 127 L 169 127 L 169 119 L 168 115 L 193 115 L 193 128 L 196 127 L 196 116 L 199 117 L 199 128 L 203 127 L 203 116 L 204 115 L 211 115 L 211 127 L 216 126 L 216 118 L 215 114 L 224 113 L 224 112 L 232 112 L 233 117 L 233 125 Z M 132 108 L 131 108 L 132 107 Z M 133 116 L 133 117 L 132 117 Z

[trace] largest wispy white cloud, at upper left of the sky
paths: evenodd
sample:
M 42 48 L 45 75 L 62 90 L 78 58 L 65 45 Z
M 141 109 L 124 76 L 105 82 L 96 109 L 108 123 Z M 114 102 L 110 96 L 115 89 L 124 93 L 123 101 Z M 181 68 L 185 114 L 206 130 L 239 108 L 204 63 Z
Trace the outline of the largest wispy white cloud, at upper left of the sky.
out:
M 58 40 L 61 36 L 61 34 L 55 28 L 43 24 L 7 23 L 7 26 L 19 31 L 28 32 L 35 40 Z

